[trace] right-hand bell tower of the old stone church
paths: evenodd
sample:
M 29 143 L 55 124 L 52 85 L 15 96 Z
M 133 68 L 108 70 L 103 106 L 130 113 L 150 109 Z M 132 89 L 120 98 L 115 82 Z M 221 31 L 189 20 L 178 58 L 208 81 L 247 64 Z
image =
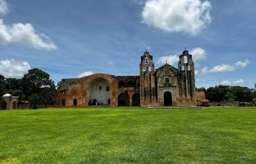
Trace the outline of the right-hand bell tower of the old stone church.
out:
M 194 97 L 195 79 L 194 79 L 194 62 L 192 55 L 185 49 L 179 56 L 179 95 L 181 97 Z

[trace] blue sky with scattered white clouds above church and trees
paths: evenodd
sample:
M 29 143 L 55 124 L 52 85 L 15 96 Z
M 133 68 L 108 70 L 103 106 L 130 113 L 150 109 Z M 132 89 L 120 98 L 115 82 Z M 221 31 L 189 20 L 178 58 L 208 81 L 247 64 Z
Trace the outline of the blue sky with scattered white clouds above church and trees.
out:
M 187 48 L 196 87 L 253 88 L 256 3 L 202 0 L 0 0 L 0 74 L 40 68 L 58 82 L 91 73 L 139 74 L 148 49 L 156 68 L 177 67 Z

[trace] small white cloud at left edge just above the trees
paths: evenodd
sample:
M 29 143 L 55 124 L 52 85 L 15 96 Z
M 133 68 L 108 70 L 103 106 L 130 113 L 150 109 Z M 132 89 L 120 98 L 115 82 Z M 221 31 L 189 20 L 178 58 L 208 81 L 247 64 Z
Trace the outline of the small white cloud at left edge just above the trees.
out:
M 0 61 L 0 74 L 7 78 L 20 78 L 30 70 L 26 61 L 15 61 L 13 59 Z

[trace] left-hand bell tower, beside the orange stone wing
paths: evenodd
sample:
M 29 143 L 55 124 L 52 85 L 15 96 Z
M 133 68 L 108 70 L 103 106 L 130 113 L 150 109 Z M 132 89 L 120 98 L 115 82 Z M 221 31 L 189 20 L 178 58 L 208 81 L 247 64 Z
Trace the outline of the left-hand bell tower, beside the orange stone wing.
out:
M 140 105 L 155 105 L 155 64 L 147 50 L 140 62 Z

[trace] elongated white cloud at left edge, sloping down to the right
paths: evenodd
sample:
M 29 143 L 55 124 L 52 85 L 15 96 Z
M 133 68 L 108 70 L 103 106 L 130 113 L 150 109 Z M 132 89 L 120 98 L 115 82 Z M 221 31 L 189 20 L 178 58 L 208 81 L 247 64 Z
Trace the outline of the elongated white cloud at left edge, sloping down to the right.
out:
M 21 43 L 34 49 L 54 50 L 57 46 L 45 34 L 36 34 L 31 24 L 12 24 L 8 26 L 0 19 L 0 41 L 3 44 Z

